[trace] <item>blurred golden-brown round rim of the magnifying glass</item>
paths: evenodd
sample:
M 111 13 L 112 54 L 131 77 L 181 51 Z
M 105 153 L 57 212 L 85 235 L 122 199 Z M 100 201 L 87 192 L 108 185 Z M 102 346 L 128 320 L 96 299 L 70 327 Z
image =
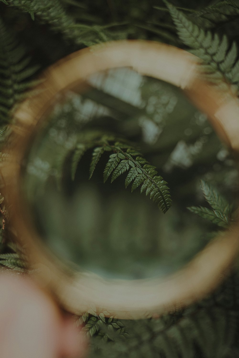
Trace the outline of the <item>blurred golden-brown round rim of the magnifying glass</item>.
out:
M 239 151 L 238 99 L 229 91 L 219 91 L 200 79 L 198 61 L 184 50 L 156 42 L 130 40 L 96 45 L 50 66 L 43 73 L 44 82 L 36 88 L 37 94 L 16 110 L 11 159 L 1 168 L 6 184 L 4 196 L 11 204 L 11 231 L 26 244 L 30 262 L 38 268 L 39 283 L 53 293 L 64 309 L 75 314 L 103 312 L 121 319 L 157 316 L 190 304 L 213 290 L 238 254 L 239 224 L 236 223 L 180 271 L 165 279 L 105 280 L 93 274 L 73 272 L 51 256 L 22 208 L 18 185 L 21 160 L 36 124 L 45 120 L 58 93 L 76 88 L 98 71 L 127 66 L 182 88 L 208 115 L 219 137 L 232 150 Z

